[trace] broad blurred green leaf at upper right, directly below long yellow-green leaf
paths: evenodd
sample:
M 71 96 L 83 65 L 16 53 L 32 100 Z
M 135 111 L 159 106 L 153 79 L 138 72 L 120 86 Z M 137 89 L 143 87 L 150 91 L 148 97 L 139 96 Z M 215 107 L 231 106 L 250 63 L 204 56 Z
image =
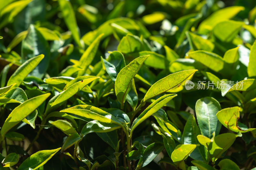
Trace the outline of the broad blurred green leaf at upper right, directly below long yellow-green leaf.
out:
M 213 35 L 220 39 L 220 41 L 230 42 L 236 37 L 243 25 L 244 22 L 222 21 L 214 26 L 212 30 Z

